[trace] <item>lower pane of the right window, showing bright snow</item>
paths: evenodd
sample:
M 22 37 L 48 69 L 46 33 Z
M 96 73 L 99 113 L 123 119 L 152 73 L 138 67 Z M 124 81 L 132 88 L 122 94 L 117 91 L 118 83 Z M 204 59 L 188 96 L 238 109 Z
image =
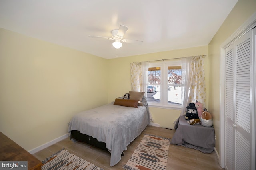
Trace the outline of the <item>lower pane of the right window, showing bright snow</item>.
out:
M 168 104 L 182 103 L 182 86 L 168 86 Z

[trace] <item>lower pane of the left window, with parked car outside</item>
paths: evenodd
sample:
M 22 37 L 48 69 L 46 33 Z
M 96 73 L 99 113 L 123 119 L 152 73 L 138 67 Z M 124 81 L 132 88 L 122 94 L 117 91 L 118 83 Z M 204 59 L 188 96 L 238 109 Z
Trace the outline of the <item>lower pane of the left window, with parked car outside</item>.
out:
M 149 85 L 148 86 L 148 93 L 147 93 L 147 98 L 148 98 L 148 102 L 151 103 L 160 103 L 160 92 L 161 92 L 161 86 L 160 85 L 156 85 L 156 86 L 152 86 Z M 152 90 L 153 89 L 153 90 Z M 152 92 L 154 91 L 154 92 Z

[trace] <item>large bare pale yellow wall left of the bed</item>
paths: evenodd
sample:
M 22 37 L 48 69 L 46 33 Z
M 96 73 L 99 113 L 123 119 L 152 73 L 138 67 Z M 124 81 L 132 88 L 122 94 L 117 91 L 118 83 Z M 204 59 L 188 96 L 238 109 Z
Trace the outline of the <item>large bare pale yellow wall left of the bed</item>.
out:
M 0 131 L 26 150 L 67 134 L 74 114 L 108 102 L 106 62 L 0 28 Z

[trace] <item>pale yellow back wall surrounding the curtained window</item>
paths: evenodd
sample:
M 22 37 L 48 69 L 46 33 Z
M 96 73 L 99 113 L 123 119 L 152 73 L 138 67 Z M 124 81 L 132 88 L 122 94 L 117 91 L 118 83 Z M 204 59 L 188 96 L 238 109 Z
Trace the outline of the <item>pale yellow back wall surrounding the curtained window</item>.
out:
M 121 50 L 121 49 L 120 49 Z M 152 61 L 158 59 L 172 59 L 207 54 L 207 46 L 178 49 L 131 57 L 121 57 L 108 59 L 108 102 L 114 101 L 116 97 L 123 96 L 131 89 L 130 84 L 130 63 L 140 61 Z M 208 89 L 208 57 L 205 59 L 206 90 Z M 206 92 L 206 108 L 208 106 L 208 91 Z M 180 110 L 162 109 L 150 107 L 150 112 L 154 118 L 154 123 L 160 127 L 174 128 L 173 122 L 179 117 Z

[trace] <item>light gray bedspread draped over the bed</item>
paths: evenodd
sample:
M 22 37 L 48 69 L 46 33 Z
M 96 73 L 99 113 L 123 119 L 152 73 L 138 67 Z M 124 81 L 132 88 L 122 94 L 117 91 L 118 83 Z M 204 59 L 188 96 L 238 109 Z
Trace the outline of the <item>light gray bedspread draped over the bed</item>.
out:
M 70 121 L 68 132 L 78 130 L 105 142 L 111 153 L 110 166 L 121 160 L 121 154 L 127 146 L 140 135 L 149 123 L 148 104 L 125 107 L 113 105 L 114 102 L 76 114 Z

